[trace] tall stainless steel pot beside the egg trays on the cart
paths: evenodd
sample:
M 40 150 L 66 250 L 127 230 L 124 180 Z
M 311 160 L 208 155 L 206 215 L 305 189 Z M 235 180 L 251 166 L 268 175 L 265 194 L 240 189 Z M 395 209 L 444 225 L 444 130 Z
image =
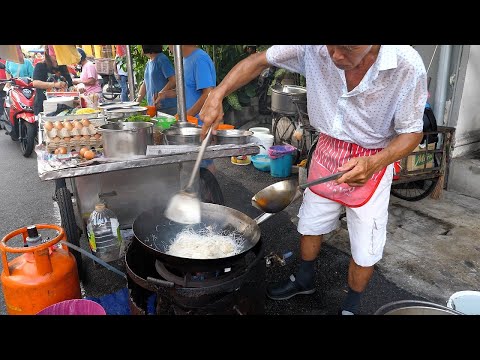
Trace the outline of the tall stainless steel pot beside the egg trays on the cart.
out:
M 106 157 L 128 159 L 145 155 L 153 144 L 153 124 L 150 122 L 118 122 L 98 128 L 103 138 Z

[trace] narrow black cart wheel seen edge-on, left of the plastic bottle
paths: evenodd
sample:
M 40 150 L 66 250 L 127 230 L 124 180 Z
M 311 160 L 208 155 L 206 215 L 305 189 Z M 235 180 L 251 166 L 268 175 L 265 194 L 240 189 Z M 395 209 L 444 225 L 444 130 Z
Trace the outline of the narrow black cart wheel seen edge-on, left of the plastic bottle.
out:
M 62 227 L 65 229 L 67 241 L 73 245 L 80 246 L 80 231 L 75 220 L 75 212 L 72 205 L 72 194 L 66 187 L 60 187 L 55 192 L 55 198 L 60 210 L 60 218 L 62 219 Z M 82 254 L 72 251 L 77 261 L 78 276 L 80 280 L 85 280 L 85 272 L 82 264 Z

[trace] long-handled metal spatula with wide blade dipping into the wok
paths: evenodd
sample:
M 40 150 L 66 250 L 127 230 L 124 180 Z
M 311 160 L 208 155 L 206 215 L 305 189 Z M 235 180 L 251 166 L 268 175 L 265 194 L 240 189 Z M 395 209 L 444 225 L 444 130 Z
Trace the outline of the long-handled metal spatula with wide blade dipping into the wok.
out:
M 210 141 L 211 133 L 212 128 L 210 127 L 207 136 L 200 146 L 197 159 L 195 160 L 195 165 L 193 166 L 192 175 L 190 175 L 190 181 L 188 182 L 187 186 L 185 186 L 183 190 L 175 194 L 170 199 L 165 210 L 165 217 L 167 219 L 181 224 L 198 224 L 200 222 L 200 199 L 197 197 L 197 193 L 193 190 L 192 186 L 195 177 L 198 174 L 198 169 L 200 167 L 203 154 L 205 153 L 207 144 Z

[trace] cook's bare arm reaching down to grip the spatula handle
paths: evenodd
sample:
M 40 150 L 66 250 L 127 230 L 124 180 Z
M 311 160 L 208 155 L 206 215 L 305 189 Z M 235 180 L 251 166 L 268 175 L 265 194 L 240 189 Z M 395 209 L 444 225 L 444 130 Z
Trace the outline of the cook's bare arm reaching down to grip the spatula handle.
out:
M 210 91 L 200 111 L 200 119 L 203 121 L 202 138 L 205 137 L 210 126 L 218 127 L 223 119 L 223 98 L 248 84 L 269 66 L 266 51 L 250 55 L 236 64 L 222 82 Z

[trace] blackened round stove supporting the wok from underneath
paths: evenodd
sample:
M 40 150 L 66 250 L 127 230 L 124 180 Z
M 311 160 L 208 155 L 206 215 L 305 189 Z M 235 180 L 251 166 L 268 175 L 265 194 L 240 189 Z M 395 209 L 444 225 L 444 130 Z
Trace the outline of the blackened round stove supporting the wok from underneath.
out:
M 132 313 L 147 314 L 155 295 L 157 315 L 264 314 L 265 245 L 218 269 L 189 271 L 155 258 L 136 240 L 125 255 Z

